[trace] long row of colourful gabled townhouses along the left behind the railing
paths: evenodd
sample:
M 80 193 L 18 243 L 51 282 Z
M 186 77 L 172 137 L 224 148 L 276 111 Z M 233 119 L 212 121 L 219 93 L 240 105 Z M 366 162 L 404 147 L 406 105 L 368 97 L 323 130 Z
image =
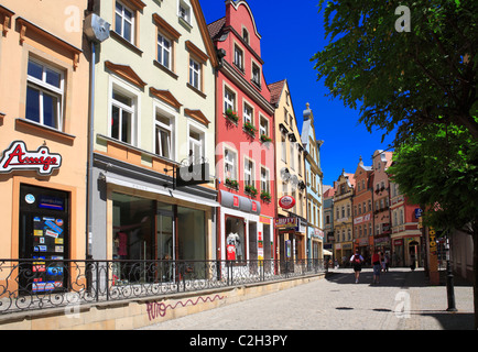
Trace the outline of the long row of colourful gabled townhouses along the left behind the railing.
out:
M 322 258 L 312 110 L 225 7 L 1 1 L 0 257 Z

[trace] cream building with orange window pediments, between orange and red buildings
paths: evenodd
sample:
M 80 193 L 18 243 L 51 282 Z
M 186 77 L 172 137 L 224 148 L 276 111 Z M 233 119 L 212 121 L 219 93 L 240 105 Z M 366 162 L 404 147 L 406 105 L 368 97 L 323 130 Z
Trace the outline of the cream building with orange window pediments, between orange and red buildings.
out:
M 110 30 L 95 44 L 90 254 L 211 258 L 217 58 L 199 1 L 101 0 L 91 10 Z M 189 165 L 203 183 L 180 185 Z

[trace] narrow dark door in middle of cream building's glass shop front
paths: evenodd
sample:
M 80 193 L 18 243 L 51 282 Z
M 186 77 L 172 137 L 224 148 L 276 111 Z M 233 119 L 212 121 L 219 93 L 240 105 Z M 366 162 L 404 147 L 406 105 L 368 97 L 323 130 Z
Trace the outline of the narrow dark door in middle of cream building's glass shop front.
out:
M 159 211 L 156 215 L 156 260 L 160 263 L 159 272 L 162 282 L 174 280 L 175 242 L 173 213 Z

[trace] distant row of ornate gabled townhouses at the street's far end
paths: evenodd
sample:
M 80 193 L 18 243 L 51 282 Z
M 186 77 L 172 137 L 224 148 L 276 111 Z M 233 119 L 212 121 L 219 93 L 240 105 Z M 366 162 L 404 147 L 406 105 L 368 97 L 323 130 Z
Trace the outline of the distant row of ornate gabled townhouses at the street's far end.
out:
M 378 250 L 394 266 L 423 265 L 420 209 L 390 180 L 387 170 L 392 155 L 376 151 L 372 166 L 366 166 L 360 157 L 354 174 L 343 170 L 334 187 L 324 193 L 324 248 L 340 264 L 357 250 L 370 263 Z

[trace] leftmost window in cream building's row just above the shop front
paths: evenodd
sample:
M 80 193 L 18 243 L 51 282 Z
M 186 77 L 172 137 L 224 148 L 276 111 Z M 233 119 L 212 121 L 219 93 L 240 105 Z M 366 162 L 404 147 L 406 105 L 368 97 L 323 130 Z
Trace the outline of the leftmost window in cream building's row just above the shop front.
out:
M 133 144 L 134 98 L 112 91 L 111 99 L 111 138 Z

